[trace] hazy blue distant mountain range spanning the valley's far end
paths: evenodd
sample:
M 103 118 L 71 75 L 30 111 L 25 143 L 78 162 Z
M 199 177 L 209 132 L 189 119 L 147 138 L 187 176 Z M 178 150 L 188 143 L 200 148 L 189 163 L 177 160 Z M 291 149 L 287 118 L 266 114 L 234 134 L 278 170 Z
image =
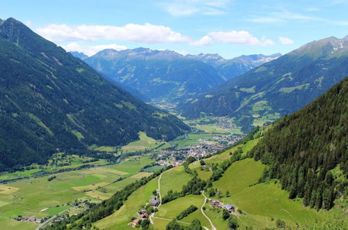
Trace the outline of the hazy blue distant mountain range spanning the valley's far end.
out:
M 184 56 L 170 50 L 136 48 L 104 49 L 84 61 L 134 95 L 141 93 L 150 100 L 177 102 L 278 56 L 260 54 L 226 60 L 218 54 Z

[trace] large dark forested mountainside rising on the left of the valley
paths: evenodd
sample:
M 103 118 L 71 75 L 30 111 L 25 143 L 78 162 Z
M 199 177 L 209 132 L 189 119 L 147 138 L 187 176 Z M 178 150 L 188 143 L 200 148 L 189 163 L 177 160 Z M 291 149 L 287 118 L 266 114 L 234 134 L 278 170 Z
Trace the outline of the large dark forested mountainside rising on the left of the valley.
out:
M 188 130 L 83 61 L 10 18 L 0 23 L 0 171 L 57 151 L 121 146 L 143 131 L 173 139 Z

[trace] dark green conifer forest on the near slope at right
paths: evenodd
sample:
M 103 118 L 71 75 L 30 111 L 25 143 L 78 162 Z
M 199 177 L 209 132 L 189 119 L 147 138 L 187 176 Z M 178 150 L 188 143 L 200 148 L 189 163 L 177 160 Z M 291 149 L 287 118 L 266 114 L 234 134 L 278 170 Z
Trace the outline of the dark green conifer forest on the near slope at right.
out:
M 262 181 L 278 178 L 290 198 L 330 209 L 347 196 L 348 78 L 298 112 L 276 121 L 248 155 L 269 164 Z

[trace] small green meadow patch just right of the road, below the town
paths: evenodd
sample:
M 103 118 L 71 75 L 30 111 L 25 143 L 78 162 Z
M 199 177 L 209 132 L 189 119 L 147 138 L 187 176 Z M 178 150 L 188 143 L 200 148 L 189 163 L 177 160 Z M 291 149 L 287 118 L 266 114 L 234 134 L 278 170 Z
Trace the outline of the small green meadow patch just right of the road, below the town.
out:
M 161 195 L 165 196 L 169 190 L 180 192 L 182 186 L 191 179 L 191 174 L 184 171 L 184 167 L 173 168 L 166 171 L 161 177 Z

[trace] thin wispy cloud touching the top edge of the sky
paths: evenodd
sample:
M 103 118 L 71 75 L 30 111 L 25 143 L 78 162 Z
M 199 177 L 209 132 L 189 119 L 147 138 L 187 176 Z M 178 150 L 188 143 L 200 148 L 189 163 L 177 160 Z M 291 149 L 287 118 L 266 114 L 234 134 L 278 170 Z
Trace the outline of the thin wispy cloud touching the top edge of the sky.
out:
M 230 0 L 175 0 L 161 3 L 172 16 L 188 16 L 195 13 L 203 15 L 226 14 Z

